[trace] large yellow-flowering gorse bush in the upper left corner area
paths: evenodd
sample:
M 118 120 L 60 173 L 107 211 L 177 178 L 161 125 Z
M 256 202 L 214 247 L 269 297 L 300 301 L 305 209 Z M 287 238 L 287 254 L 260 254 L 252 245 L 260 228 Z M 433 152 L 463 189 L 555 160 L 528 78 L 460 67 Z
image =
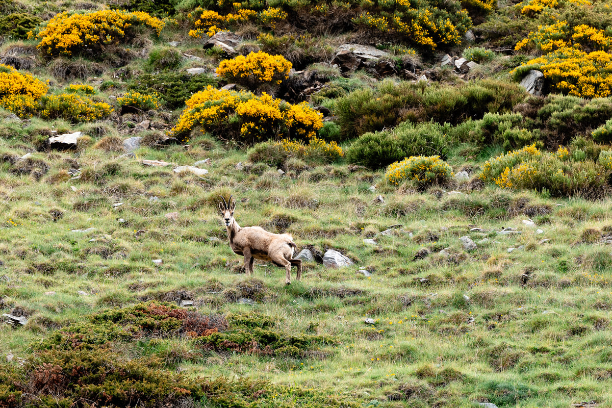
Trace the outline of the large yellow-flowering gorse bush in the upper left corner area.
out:
M 122 10 L 99 10 L 84 14 L 62 12 L 51 18 L 35 38 L 43 54 L 73 56 L 103 53 L 105 46 L 128 43 L 133 26 L 145 26 L 159 35 L 163 21 L 144 12 Z

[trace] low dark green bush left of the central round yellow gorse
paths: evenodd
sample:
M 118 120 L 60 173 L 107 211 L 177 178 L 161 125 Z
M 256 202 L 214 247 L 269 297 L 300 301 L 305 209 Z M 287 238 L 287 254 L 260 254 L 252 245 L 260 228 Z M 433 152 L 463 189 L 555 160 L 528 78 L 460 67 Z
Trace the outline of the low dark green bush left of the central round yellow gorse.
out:
M 185 100 L 207 85 L 216 86 L 217 80 L 207 75 L 167 72 L 140 75 L 129 84 L 128 89 L 142 94 L 157 92 L 168 108 L 177 109 L 185 106 Z

